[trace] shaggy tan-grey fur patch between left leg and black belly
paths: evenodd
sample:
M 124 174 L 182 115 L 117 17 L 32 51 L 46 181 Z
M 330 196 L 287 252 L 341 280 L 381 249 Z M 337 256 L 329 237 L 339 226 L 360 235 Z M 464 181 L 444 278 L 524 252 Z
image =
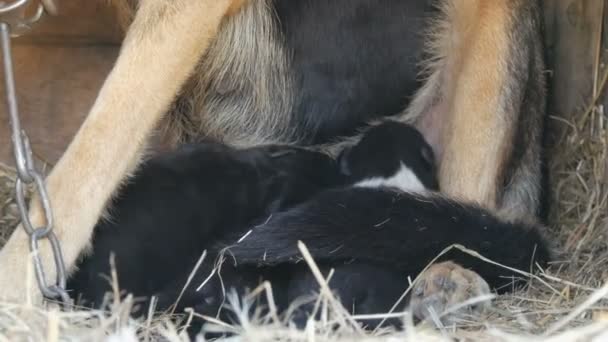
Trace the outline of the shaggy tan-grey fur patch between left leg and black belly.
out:
M 172 110 L 167 132 L 173 141 L 294 141 L 287 53 L 269 6 L 252 2 L 223 26 Z

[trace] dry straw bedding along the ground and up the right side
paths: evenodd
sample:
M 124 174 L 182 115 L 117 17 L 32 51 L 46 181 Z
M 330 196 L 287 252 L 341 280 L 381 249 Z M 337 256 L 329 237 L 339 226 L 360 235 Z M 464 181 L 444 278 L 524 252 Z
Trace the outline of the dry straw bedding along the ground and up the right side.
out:
M 603 89 L 608 78 L 598 78 Z M 601 91 L 599 92 L 601 93 Z M 239 315 L 238 325 L 207 317 L 209 329 L 236 333 L 231 340 L 246 341 L 603 341 L 608 340 L 608 132 L 603 107 L 597 98 L 572 120 L 552 117 L 561 136 L 549 152 L 552 204 L 550 226 L 561 254 L 547 270 L 530 279 L 525 289 L 494 300 L 482 315 L 463 319 L 459 329 L 429 325 L 414 327 L 405 313 L 403 331 L 363 332 L 331 293 L 318 298 L 319 321 L 305 330 L 289 326 L 288 317 L 273 314 L 247 316 L 242 312 L 251 298 L 228 296 Z M 13 201 L 14 170 L 0 165 L 0 246 L 18 222 Z M 314 262 L 307 260 L 314 268 Z M 31 278 L 31 277 L 30 277 Z M 324 284 L 323 279 L 319 279 Z M 36 290 L 31 286 L 30 290 Z M 256 291 L 254 291 L 256 293 Z M 262 286 L 257 295 L 270 295 Z M 113 301 L 107 311 L 56 309 L 0 303 L 0 340 L 186 341 L 183 329 L 169 316 L 129 317 L 133 300 Z M 152 312 L 152 311 L 151 311 Z M 195 315 L 195 313 L 192 313 Z M 192 317 L 190 317 L 191 319 Z M 361 317 L 359 317 L 361 318 Z M 186 317 L 186 320 L 189 319 Z

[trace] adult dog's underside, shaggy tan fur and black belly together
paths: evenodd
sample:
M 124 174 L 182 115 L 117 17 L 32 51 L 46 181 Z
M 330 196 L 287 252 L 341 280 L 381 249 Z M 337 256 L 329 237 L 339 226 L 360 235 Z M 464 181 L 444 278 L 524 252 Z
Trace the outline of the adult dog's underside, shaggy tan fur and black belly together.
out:
M 186 140 L 322 143 L 399 113 L 431 0 L 258 0 L 228 20 L 177 102 Z M 175 122 L 175 121 L 174 121 Z

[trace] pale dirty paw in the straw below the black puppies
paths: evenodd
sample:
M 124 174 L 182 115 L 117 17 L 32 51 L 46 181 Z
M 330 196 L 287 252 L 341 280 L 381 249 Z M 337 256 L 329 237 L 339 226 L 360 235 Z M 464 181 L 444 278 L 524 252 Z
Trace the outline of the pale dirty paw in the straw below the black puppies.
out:
M 488 294 L 488 283 L 477 273 L 453 262 L 442 262 L 431 266 L 414 284 L 410 310 L 420 320 L 451 325 L 463 314 L 478 314 L 485 310 L 490 299 L 462 304 Z

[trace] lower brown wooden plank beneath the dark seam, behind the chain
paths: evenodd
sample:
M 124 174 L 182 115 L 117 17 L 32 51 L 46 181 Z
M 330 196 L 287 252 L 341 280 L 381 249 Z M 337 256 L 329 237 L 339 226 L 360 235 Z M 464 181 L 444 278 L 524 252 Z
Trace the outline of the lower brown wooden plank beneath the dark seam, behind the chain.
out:
M 22 124 L 35 152 L 55 162 L 84 120 L 116 49 L 30 45 L 13 54 Z M 4 99 L 0 105 L 0 161 L 12 165 Z

